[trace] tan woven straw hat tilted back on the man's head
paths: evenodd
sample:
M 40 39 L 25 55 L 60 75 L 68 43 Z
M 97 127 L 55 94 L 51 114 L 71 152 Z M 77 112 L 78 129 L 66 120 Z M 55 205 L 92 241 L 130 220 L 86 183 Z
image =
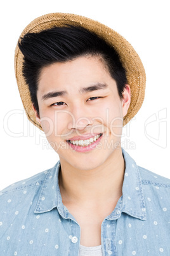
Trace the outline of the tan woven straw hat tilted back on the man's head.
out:
M 145 69 L 143 68 L 140 57 L 135 52 L 133 46 L 131 46 L 130 43 L 120 34 L 115 32 L 113 29 L 110 29 L 110 27 L 107 27 L 95 20 L 91 20 L 90 18 L 69 13 L 49 13 L 38 17 L 25 27 L 21 37 L 28 32 L 40 32 L 54 26 L 61 27 L 65 24 L 81 25 L 89 31 L 95 32 L 98 36 L 105 39 L 107 43 L 114 46 L 115 50 L 119 53 L 122 65 L 126 69 L 128 84 L 131 87 L 131 104 L 127 115 L 124 117 L 123 123 L 126 125 L 129 120 L 136 115 L 138 110 L 140 110 L 145 96 Z M 23 107 L 25 108 L 30 122 L 42 130 L 42 127 L 37 122 L 34 111 L 32 110 L 29 87 L 27 83 L 25 83 L 25 78 L 22 75 L 22 68 L 23 55 L 17 45 L 15 49 L 15 75 Z

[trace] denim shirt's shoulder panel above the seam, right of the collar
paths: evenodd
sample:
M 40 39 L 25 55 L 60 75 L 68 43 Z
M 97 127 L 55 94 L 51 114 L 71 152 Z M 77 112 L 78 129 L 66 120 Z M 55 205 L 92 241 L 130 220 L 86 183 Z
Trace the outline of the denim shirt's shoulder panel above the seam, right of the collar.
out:
M 159 174 L 156 174 L 148 169 L 138 166 L 141 176 L 141 183 L 143 185 L 150 185 L 155 187 L 170 188 L 170 180 Z

